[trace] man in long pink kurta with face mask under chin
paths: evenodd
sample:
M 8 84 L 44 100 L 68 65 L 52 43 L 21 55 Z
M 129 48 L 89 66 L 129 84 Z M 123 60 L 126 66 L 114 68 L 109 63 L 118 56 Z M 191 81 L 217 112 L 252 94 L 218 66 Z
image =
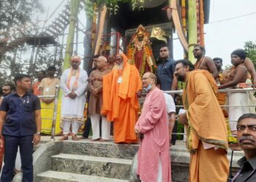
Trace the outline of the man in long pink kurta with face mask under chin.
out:
M 135 132 L 140 135 L 138 170 L 144 182 L 170 182 L 170 141 L 164 93 L 156 87 L 157 77 L 147 72 L 142 77 L 148 92 Z

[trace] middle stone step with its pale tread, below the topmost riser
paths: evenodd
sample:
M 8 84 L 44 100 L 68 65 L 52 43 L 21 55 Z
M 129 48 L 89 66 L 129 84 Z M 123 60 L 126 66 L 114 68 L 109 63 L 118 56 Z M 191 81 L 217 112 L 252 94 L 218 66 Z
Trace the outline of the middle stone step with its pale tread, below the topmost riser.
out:
M 132 160 L 73 154 L 52 156 L 52 170 L 129 180 Z

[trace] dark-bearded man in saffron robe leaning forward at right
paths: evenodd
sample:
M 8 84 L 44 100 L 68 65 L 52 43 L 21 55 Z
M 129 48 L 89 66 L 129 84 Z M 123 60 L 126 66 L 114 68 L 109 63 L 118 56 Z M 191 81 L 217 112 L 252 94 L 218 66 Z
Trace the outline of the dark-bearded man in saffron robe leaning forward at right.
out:
M 227 127 L 216 98 L 217 84 L 206 70 L 195 70 L 189 60 L 176 62 L 175 74 L 186 81 L 185 114 L 178 118 L 187 127 L 190 152 L 189 182 L 227 181 Z

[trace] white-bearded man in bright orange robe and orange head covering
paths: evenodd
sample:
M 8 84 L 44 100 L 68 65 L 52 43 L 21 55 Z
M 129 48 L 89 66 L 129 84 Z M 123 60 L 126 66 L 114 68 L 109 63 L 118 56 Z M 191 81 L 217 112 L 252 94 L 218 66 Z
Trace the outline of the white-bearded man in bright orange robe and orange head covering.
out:
M 116 55 L 116 66 L 103 76 L 102 116 L 113 121 L 115 143 L 136 143 L 134 132 L 138 119 L 137 93 L 141 90 L 140 74 L 127 57 Z

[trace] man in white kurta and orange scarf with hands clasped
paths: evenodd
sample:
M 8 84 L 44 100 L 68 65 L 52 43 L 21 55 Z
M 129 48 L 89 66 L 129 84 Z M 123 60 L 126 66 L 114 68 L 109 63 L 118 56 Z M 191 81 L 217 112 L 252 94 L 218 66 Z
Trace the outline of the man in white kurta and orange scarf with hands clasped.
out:
M 61 76 L 61 127 L 63 137 L 60 141 L 68 139 L 70 125 L 72 125 L 72 140 L 78 141 L 79 127 L 83 124 L 83 110 L 86 103 L 85 90 L 87 87 L 87 73 L 80 69 L 81 58 L 71 58 L 71 68 L 64 71 Z

